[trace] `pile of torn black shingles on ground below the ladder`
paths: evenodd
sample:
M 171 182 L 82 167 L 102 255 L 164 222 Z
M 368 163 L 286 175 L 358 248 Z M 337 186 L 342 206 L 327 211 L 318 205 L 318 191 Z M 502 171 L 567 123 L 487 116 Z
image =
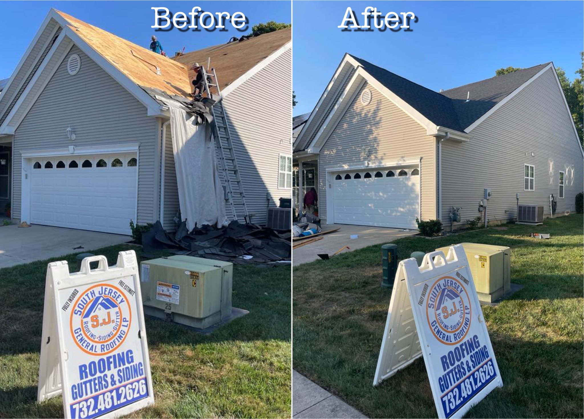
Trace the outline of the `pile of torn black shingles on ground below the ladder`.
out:
M 178 254 L 232 263 L 266 264 L 290 261 L 290 240 L 290 231 L 277 231 L 237 221 L 231 221 L 227 227 L 221 228 L 197 227 L 190 233 L 183 221 L 175 234 L 168 233 L 157 221 L 142 234 L 142 247 L 145 252 L 173 249 Z

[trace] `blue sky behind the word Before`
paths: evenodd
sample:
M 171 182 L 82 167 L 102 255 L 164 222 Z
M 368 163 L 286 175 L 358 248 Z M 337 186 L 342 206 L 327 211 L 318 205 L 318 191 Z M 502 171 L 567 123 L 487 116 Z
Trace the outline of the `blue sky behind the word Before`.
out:
M 225 25 L 228 32 L 154 32 L 154 11 L 151 7 L 166 7 L 171 12 L 190 12 L 199 6 L 205 12 L 242 12 L 249 19 L 249 30 L 238 32 Z M 291 22 L 290 1 L 0 1 L 0 79 L 9 78 L 25 53 L 30 41 L 50 8 L 68 13 L 75 18 L 98 26 L 109 32 L 148 48 L 150 37 L 156 34 L 164 50 L 173 55 L 175 51 L 200 50 L 227 42 L 231 36 L 251 32 L 251 27 L 260 22 L 276 20 Z

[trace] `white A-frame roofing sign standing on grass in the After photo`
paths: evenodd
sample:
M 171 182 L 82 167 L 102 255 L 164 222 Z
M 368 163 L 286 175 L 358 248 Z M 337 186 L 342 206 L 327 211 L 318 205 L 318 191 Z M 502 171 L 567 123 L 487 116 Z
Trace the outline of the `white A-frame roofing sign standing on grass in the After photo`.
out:
M 461 418 L 503 380 L 462 245 L 399 262 L 373 385 L 424 357 L 439 418 Z

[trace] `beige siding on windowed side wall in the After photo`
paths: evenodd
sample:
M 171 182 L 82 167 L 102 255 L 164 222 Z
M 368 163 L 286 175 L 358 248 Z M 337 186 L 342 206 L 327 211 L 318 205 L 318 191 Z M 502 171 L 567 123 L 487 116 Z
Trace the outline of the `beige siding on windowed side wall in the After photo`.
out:
M 478 202 L 483 198 L 484 188 L 491 188 L 492 192 L 488 201 L 489 221 L 516 218 L 516 193 L 520 205 L 543 205 L 548 215 L 549 195 L 558 196 L 560 170 L 566 172 L 565 198 L 558 198 L 557 213 L 575 209 L 575 195 L 582 192 L 583 185 L 582 152 L 553 71 L 553 68 L 545 71 L 479 124 L 470 132 L 472 138 L 468 143 L 444 141 L 445 226 L 450 226 L 453 206 L 463 207 L 461 224 L 481 214 Z M 524 164 L 535 166 L 535 191 L 523 190 Z

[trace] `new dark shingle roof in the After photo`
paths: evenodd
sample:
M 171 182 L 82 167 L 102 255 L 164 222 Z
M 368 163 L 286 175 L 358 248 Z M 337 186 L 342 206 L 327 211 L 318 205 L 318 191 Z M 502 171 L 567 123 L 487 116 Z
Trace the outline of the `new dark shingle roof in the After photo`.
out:
M 350 55 L 350 54 L 349 54 Z M 464 129 L 550 63 L 492 77 L 443 92 L 434 92 L 355 56 L 365 71 L 434 124 Z M 470 92 L 470 101 L 467 100 Z

